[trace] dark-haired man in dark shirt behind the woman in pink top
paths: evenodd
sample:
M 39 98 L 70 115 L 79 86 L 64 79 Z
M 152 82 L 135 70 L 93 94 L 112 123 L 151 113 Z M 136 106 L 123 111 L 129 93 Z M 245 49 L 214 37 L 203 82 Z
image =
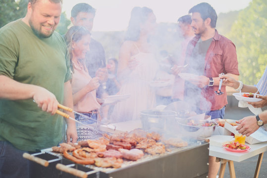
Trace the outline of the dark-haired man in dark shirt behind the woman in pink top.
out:
M 87 3 L 78 3 L 71 9 L 71 22 L 75 26 L 83 26 L 88 31 L 92 31 L 96 9 Z M 98 77 L 102 84 L 97 90 L 97 97 L 102 98 L 105 92 L 107 81 L 106 57 L 103 46 L 91 38 L 90 51 L 86 55 L 86 67 L 89 75 Z

